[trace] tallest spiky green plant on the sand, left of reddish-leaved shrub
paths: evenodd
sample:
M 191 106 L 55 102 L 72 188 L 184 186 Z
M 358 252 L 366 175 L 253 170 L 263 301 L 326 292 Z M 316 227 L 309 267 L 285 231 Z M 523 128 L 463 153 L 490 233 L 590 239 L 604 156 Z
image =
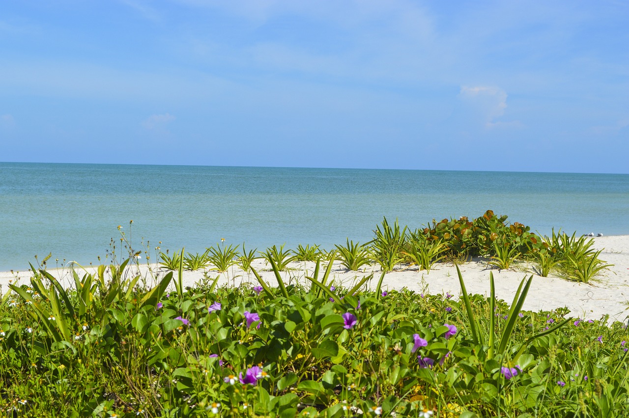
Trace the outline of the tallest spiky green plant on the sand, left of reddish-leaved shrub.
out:
M 406 226 L 400 229 L 398 219 L 393 226 L 384 218 L 382 225 L 376 226 L 374 234 L 376 238 L 370 241 L 370 247 L 373 260 L 379 263 L 382 271 L 391 272 L 393 268 L 404 260 L 402 251 L 406 243 Z

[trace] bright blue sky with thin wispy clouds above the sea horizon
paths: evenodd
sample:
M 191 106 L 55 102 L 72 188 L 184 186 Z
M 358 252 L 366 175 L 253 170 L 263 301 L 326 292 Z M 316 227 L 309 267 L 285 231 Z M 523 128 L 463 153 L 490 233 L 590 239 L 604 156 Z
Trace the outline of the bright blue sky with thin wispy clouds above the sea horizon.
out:
M 629 2 L 0 3 L 0 162 L 629 173 Z

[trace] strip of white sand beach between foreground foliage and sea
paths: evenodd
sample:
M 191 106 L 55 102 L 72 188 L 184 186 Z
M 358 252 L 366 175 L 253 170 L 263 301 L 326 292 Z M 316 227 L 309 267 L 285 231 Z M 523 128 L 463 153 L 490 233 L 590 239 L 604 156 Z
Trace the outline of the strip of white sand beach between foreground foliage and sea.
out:
M 567 307 L 571 311 L 571 316 L 581 319 L 601 319 L 609 315 L 608 321 L 626 321 L 629 315 L 629 235 L 604 236 L 594 239 L 594 248 L 604 249 L 599 258 L 613 264 L 613 267 L 591 280 L 589 283 L 576 283 L 557 277 L 540 277 L 533 273 L 532 267 L 523 264 L 515 265 L 509 270 L 498 270 L 486 264 L 485 260 L 473 260 L 463 265 L 460 269 L 465 281 L 467 291 L 472 294 L 489 294 L 489 272 L 493 272 L 496 284 L 496 296 L 511 303 L 513 295 L 520 285 L 523 277 L 533 274 L 533 283 L 524 305 L 524 309 L 531 311 L 552 310 L 559 307 Z M 265 282 L 276 285 L 274 273 L 269 271 L 264 260 L 255 260 L 253 267 L 260 273 Z M 305 275 L 312 275 L 315 263 L 294 262 L 290 265 L 289 272 L 282 272 L 282 277 L 286 282 L 299 280 L 306 282 Z M 79 269 L 77 267 L 77 269 Z M 84 273 L 79 269 L 79 275 Z M 94 268 L 89 268 L 94 272 Z M 69 269 L 48 271 L 62 281 L 66 286 L 74 285 L 74 280 Z M 155 265 L 140 263 L 139 267 L 133 266 L 128 272 L 129 275 L 140 273 L 145 279 L 145 283 L 150 286 L 155 280 L 164 277 L 164 270 Z M 379 266 L 367 268 L 365 272 L 348 272 L 340 263 L 333 265 L 328 282 L 350 283 L 360 280 L 364 275 L 374 273 L 374 278 L 369 282 L 371 287 L 376 287 L 380 277 Z M 208 272 L 211 278 L 219 273 Z M 321 275 L 323 272 L 320 273 Z M 237 267 L 231 268 L 226 273 L 220 273 L 220 285 L 240 285 L 245 283 L 251 286 L 257 285 L 255 276 L 252 273 L 245 273 Z M 174 273 L 177 277 L 177 273 Z M 186 286 L 194 286 L 204 279 L 204 272 L 184 272 L 183 282 Z M 8 290 L 8 283 L 27 284 L 30 283 L 29 272 L 1 272 L 0 290 L 4 293 Z M 382 287 L 384 290 L 409 289 L 415 292 L 430 294 L 450 294 L 458 297 L 460 295 L 460 285 L 457 270 L 454 265 L 438 263 L 430 273 L 419 271 L 417 267 L 400 268 L 394 272 L 387 273 Z

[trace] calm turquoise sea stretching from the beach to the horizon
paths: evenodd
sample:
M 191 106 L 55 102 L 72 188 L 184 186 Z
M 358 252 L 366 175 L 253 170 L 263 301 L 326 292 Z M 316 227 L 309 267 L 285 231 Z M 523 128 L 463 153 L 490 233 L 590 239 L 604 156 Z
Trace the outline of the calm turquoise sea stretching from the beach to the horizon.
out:
M 629 234 L 629 175 L 0 163 L 0 270 L 97 262 L 118 225 L 162 250 L 369 241 L 382 216 L 418 228 L 486 209 L 540 233 Z M 153 250 L 154 251 L 154 250 Z

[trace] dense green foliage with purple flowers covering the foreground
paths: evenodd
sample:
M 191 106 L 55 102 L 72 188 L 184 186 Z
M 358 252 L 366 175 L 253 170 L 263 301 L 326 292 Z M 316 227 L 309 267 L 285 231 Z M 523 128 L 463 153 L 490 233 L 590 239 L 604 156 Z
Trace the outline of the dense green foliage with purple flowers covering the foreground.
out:
M 524 280 L 509 309 L 481 295 L 324 290 L 329 269 L 310 289 L 278 278 L 273 288 L 214 281 L 168 294 L 172 273 L 143 290 L 124 264 L 110 282 L 103 267 L 75 275 L 74 290 L 40 270 L 4 295 L 1 412 L 629 415 L 626 326 L 566 322 L 565 309 L 520 312 Z

